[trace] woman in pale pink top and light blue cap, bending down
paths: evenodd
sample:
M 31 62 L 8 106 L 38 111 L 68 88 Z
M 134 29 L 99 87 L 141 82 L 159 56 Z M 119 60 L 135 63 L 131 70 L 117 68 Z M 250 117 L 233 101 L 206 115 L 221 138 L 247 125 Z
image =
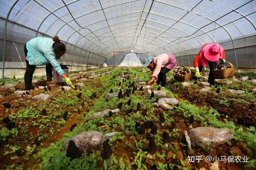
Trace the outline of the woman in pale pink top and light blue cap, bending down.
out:
M 142 67 L 150 68 L 152 75 L 148 85 L 155 83 L 160 84 L 162 87 L 166 86 L 166 73 L 171 69 L 176 68 L 176 58 L 170 53 L 160 54 L 157 57 L 145 57 Z

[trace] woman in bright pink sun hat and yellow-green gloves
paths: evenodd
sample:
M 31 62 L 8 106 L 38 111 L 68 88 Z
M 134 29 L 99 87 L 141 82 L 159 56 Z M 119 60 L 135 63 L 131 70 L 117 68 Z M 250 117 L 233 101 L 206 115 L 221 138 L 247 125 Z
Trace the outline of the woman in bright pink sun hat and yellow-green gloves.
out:
M 195 77 L 200 78 L 200 72 L 209 64 L 210 72 L 208 83 L 214 85 L 214 77 L 212 69 L 216 68 L 218 60 L 225 63 L 225 52 L 219 44 L 204 44 L 198 55 L 194 59 L 194 69 L 196 70 Z

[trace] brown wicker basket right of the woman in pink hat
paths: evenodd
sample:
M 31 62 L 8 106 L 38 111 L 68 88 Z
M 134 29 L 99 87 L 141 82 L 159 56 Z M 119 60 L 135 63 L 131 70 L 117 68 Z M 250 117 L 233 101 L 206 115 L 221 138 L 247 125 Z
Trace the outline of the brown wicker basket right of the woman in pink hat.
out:
M 224 68 L 221 70 L 212 70 L 214 79 L 226 79 L 229 77 L 233 77 L 235 75 L 235 70 L 237 68 L 234 68 L 233 64 L 230 62 L 227 62 L 231 68 Z

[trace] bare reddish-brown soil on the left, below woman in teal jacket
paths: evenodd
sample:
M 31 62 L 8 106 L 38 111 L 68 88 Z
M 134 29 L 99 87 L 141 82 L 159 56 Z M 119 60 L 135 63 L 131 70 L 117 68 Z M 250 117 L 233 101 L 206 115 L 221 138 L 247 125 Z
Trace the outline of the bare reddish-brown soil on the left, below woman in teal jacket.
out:
M 78 82 L 79 82 L 79 80 L 73 81 L 73 83 L 78 83 Z M 24 97 L 22 97 L 22 99 L 21 99 L 21 96 L 13 95 L 14 91 L 16 91 L 16 90 L 25 90 L 25 85 L 22 82 L 17 83 L 15 90 L 1 89 L 0 94 L 3 96 L 3 98 L 0 98 L 0 103 L 9 103 L 11 105 L 11 109 L 6 109 L 4 106 L 1 105 L 0 106 L 0 117 L 1 118 L 9 117 L 9 115 L 11 113 L 17 113 L 21 109 L 26 109 L 27 105 L 33 106 L 34 104 L 37 104 L 38 102 L 35 100 L 32 100 L 31 96 L 36 96 L 41 93 L 45 93 L 45 94 L 50 94 L 52 97 L 53 96 L 57 97 L 58 93 L 59 93 L 60 86 L 62 86 L 64 84 L 57 84 L 54 82 L 47 83 L 47 81 L 41 80 L 41 81 L 39 81 L 39 83 L 33 84 L 34 87 L 36 87 L 37 85 L 38 86 L 50 85 L 52 87 L 52 89 L 51 89 L 51 91 L 49 91 L 47 89 L 47 92 L 45 92 L 44 89 L 28 91 L 29 95 L 25 95 Z M 100 86 L 101 84 L 94 84 L 94 85 Z M 101 94 L 99 94 L 99 96 L 100 95 Z M 18 100 L 20 100 L 20 101 L 17 102 Z M 23 104 L 22 101 L 28 101 L 28 103 Z M 58 104 L 54 100 L 47 100 L 46 102 L 52 102 L 54 104 Z M 86 102 L 86 101 L 84 101 L 84 102 Z M 90 101 L 90 103 L 88 105 L 92 106 L 93 101 Z M 34 125 L 34 126 L 32 126 L 30 124 L 31 121 L 38 122 L 41 119 L 44 119 L 43 115 L 38 117 L 37 119 L 34 119 L 34 118 L 23 119 L 21 126 L 18 122 L 16 122 L 14 128 L 18 128 L 18 136 L 12 137 L 11 141 L 4 141 L 4 142 L 0 143 L 0 169 L 4 169 L 5 168 L 4 165 L 11 165 L 11 164 L 20 165 L 20 164 L 24 164 L 24 163 L 25 163 L 24 168 L 26 168 L 26 169 L 28 169 L 28 168 L 38 169 L 39 167 L 34 167 L 34 165 L 36 165 L 38 163 L 38 161 L 37 161 L 37 159 L 34 158 L 33 154 L 36 154 L 38 151 L 40 151 L 41 148 L 49 147 L 50 143 L 57 142 L 58 140 L 63 138 L 63 136 L 60 134 L 64 134 L 64 133 L 68 132 L 70 127 L 73 124 L 75 124 L 75 123 L 79 124 L 80 122 L 82 122 L 82 120 L 83 120 L 82 114 L 87 113 L 90 109 L 89 108 L 90 106 L 82 107 L 80 109 L 81 114 L 74 112 L 74 109 L 70 108 L 69 106 L 66 106 L 65 108 L 63 108 L 64 110 L 66 110 L 70 113 L 70 116 L 69 116 L 69 119 L 62 126 L 58 126 L 57 123 L 52 122 L 50 126 L 47 126 L 46 128 L 44 128 L 42 130 L 42 129 L 40 129 L 40 124 Z M 49 107 L 46 107 L 45 109 L 47 110 L 47 109 L 49 109 Z M 62 118 L 62 116 L 63 116 L 63 114 L 59 115 L 58 118 Z M 21 132 L 21 128 L 24 127 L 26 124 L 29 124 L 30 127 L 27 129 L 26 133 Z M 0 120 L 0 125 L 5 126 L 5 123 L 2 120 Z M 51 134 L 49 132 L 50 128 L 55 130 L 54 134 Z M 45 134 L 49 137 L 41 140 L 36 145 L 35 140 L 38 136 L 39 130 L 41 130 L 40 131 L 41 134 Z M 57 131 L 57 130 L 59 130 L 59 131 Z M 33 138 L 30 138 L 30 136 L 33 136 Z M 42 145 L 40 145 L 40 143 L 42 143 Z M 21 150 L 23 151 L 23 154 L 19 157 L 17 157 L 15 153 L 7 154 L 4 156 L 4 153 L 6 152 L 6 148 L 5 148 L 6 144 L 19 146 L 21 148 Z M 24 151 L 26 152 L 26 147 L 28 145 L 31 147 L 35 147 L 35 149 L 31 155 L 24 154 Z M 16 159 L 11 160 L 11 157 L 16 157 Z M 29 159 L 29 161 L 26 161 L 24 158 Z

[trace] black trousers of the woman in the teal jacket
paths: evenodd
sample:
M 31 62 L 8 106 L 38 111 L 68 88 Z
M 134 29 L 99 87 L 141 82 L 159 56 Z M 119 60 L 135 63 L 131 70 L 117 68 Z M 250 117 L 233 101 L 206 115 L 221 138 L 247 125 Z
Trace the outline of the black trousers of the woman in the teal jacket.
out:
M 25 58 L 26 58 L 27 52 L 28 52 L 26 48 L 26 44 L 24 46 L 24 52 L 25 52 Z M 36 69 L 36 66 L 29 65 L 29 62 L 27 60 L 26 60 L 26 65 L 27 65 L 27 68 L 24 74 L 25 88 L 26 90 L 31 90 L 33 89 L 32 78 L 33 78 L 33 73 L 34 73 L 34 70 Z M 46 65 L 46 77 L 47 77 L 47 81 L 52 81 L 52 64 Z

